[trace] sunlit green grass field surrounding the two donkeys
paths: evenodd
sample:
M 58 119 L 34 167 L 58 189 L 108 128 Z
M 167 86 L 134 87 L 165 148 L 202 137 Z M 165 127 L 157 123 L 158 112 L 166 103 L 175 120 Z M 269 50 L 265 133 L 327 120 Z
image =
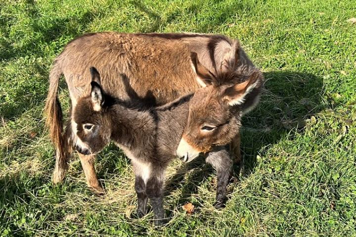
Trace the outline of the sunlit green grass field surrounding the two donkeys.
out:
M 355 237 L 352 17 L 351 0 L 0 0 L 0 236 Z M 244 163 L 226 208 L 213 207 L 216 175 L 203 159 L 177 161 L 167 177 L 169 224 L 156 228 L 152 212 L 131 219 L 134 175 L 113 145 L 96 164 L 105 196 L 86 187 L 76 156 L 53 187 L 48 73 L 69 40 L 97 31 L 224 34 L 241 40 L 264 71 L 261 103 L 243 120 Z M 186 202 L 196 207 L 191 215 Z

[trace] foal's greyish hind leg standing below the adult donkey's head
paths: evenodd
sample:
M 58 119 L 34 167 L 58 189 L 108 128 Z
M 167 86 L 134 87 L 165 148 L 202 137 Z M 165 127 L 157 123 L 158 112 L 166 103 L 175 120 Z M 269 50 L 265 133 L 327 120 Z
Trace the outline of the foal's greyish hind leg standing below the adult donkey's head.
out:
M 225 147 L 217 147 L 205 159 L 218 173 L 217 195 L 214 206 L 223 208 L 226 199 L 226 187 L 232 171 L 232 160 Z

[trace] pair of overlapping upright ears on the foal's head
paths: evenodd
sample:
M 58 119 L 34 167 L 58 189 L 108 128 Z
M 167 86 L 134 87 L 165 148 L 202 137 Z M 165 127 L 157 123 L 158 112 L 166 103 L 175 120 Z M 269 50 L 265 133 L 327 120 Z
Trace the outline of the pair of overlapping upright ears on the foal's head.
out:
M 91 103 L 94 111 L 100 111 L 102 105 L 104 104 L 104 91 L 100 85 L 100 74 L 94 68 L 90 68 L 91 73 Z

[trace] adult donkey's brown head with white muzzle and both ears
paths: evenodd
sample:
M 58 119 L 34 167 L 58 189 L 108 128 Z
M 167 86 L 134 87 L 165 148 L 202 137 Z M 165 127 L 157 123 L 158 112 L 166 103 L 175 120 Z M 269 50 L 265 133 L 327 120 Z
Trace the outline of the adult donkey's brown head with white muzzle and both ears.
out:
M 239 132 L 247 95 L 260 87 L 263 79 L 258 69 L 250 75 L 227 71 L 215 76 L 200 64 L 195 53 L 191 59 L 202 88 L 189 102 L 187 124 L 177 149 L 178 157 L 185 162 L 210 151 L 212 146 L 232 141 Z

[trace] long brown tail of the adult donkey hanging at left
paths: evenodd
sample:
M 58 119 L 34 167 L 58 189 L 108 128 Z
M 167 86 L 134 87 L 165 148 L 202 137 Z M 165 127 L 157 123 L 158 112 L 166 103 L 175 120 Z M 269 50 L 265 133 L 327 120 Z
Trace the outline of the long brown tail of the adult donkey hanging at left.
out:
M 63 157 L 64 144 L 62 138 L 63 121 L 62 121 L 62 108 L 57 97 L 58 84 L 60 76 L 62 75 L 62 69 L 60 65 L 55 61 L 53 67 L 49 73 L 49 89 L 45 105 L 46 125 L 49 128 L 49 136 L 51 141 L 56 146 L 58 155 Z

